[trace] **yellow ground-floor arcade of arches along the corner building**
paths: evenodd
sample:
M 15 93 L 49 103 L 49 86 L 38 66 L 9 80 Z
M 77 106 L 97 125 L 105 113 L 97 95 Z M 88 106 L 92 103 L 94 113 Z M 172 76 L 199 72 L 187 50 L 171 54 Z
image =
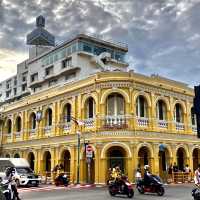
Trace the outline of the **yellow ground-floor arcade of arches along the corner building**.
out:
M 105 183 L 108 169 L 119 165 L 121 170 L 134 180 L 138 165 L 148 164 L 151 171 L 163 176 L 170 164 L 176 162 L 182 171 L 186 164 L 191 171 L 197 168 L 200 162 L 200 145 L 188 143 L 164 143 L 145 140 L 134 141 L 119 139 L 107 141 L 91 141 L 93 158 L 90 163 L 91 182 Z M 77 145 L 57 144 L 41 145 L 41 147 L 23 147 L 4 149 L 5 157 L 26 158 L 31 168 L 39 174 L 52 174 L 57 164 L 62 164 L 64 171 L 70 176 L 72 182 L 77 180 Z M 88 163 L 85 156 L 84 145 L 80 149 L 80 182 L 88 181 Z

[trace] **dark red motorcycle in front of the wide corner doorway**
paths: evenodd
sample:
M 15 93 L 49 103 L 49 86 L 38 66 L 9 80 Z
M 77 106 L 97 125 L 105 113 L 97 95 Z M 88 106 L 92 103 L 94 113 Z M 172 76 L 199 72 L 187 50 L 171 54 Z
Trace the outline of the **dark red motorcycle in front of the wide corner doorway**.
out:
M 127 195 L 129 198 L 134 196 L 134 190 L 132 184 L 128 181 L 127 176 L 122 176 L 120 180 L 110 180 L 108 190 L 111 196 L 117 194 Z

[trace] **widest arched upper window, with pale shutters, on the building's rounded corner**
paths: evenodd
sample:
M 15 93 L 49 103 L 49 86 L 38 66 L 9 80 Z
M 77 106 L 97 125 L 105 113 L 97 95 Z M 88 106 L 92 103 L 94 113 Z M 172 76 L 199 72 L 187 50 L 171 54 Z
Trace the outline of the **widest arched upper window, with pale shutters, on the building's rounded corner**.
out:
M 111 94 L 107 98 L 107 115 L 118 116 L 125 114 L 125 100 L 121 94 Z

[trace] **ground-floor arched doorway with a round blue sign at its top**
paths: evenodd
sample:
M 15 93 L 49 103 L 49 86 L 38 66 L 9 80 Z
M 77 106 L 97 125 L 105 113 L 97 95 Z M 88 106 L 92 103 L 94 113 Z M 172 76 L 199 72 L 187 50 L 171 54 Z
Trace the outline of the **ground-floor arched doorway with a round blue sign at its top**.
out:
M 170 165 L 170 155 L 165 145 L 161 144 L 159 146 L 158 156 L 159 156 L 159 175 L 162 179 L 166 181 L 167 169 Z

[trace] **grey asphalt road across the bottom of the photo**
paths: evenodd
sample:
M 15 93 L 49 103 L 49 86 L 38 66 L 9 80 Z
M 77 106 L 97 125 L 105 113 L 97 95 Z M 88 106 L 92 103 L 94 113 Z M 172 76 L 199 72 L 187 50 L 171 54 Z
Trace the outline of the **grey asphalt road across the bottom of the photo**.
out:
M 192 200 L 192 184 L 165 186 L 166 193 L 163 197 L 155 194 L 141 195 L 135 190 L 135 200 Z M 111 197 L 107 188 L 88 188 L 88 189 L 49 189 L 35 191 L 20 191 L 22 200 L 110 200 L 128 199 L 126 196 Z

